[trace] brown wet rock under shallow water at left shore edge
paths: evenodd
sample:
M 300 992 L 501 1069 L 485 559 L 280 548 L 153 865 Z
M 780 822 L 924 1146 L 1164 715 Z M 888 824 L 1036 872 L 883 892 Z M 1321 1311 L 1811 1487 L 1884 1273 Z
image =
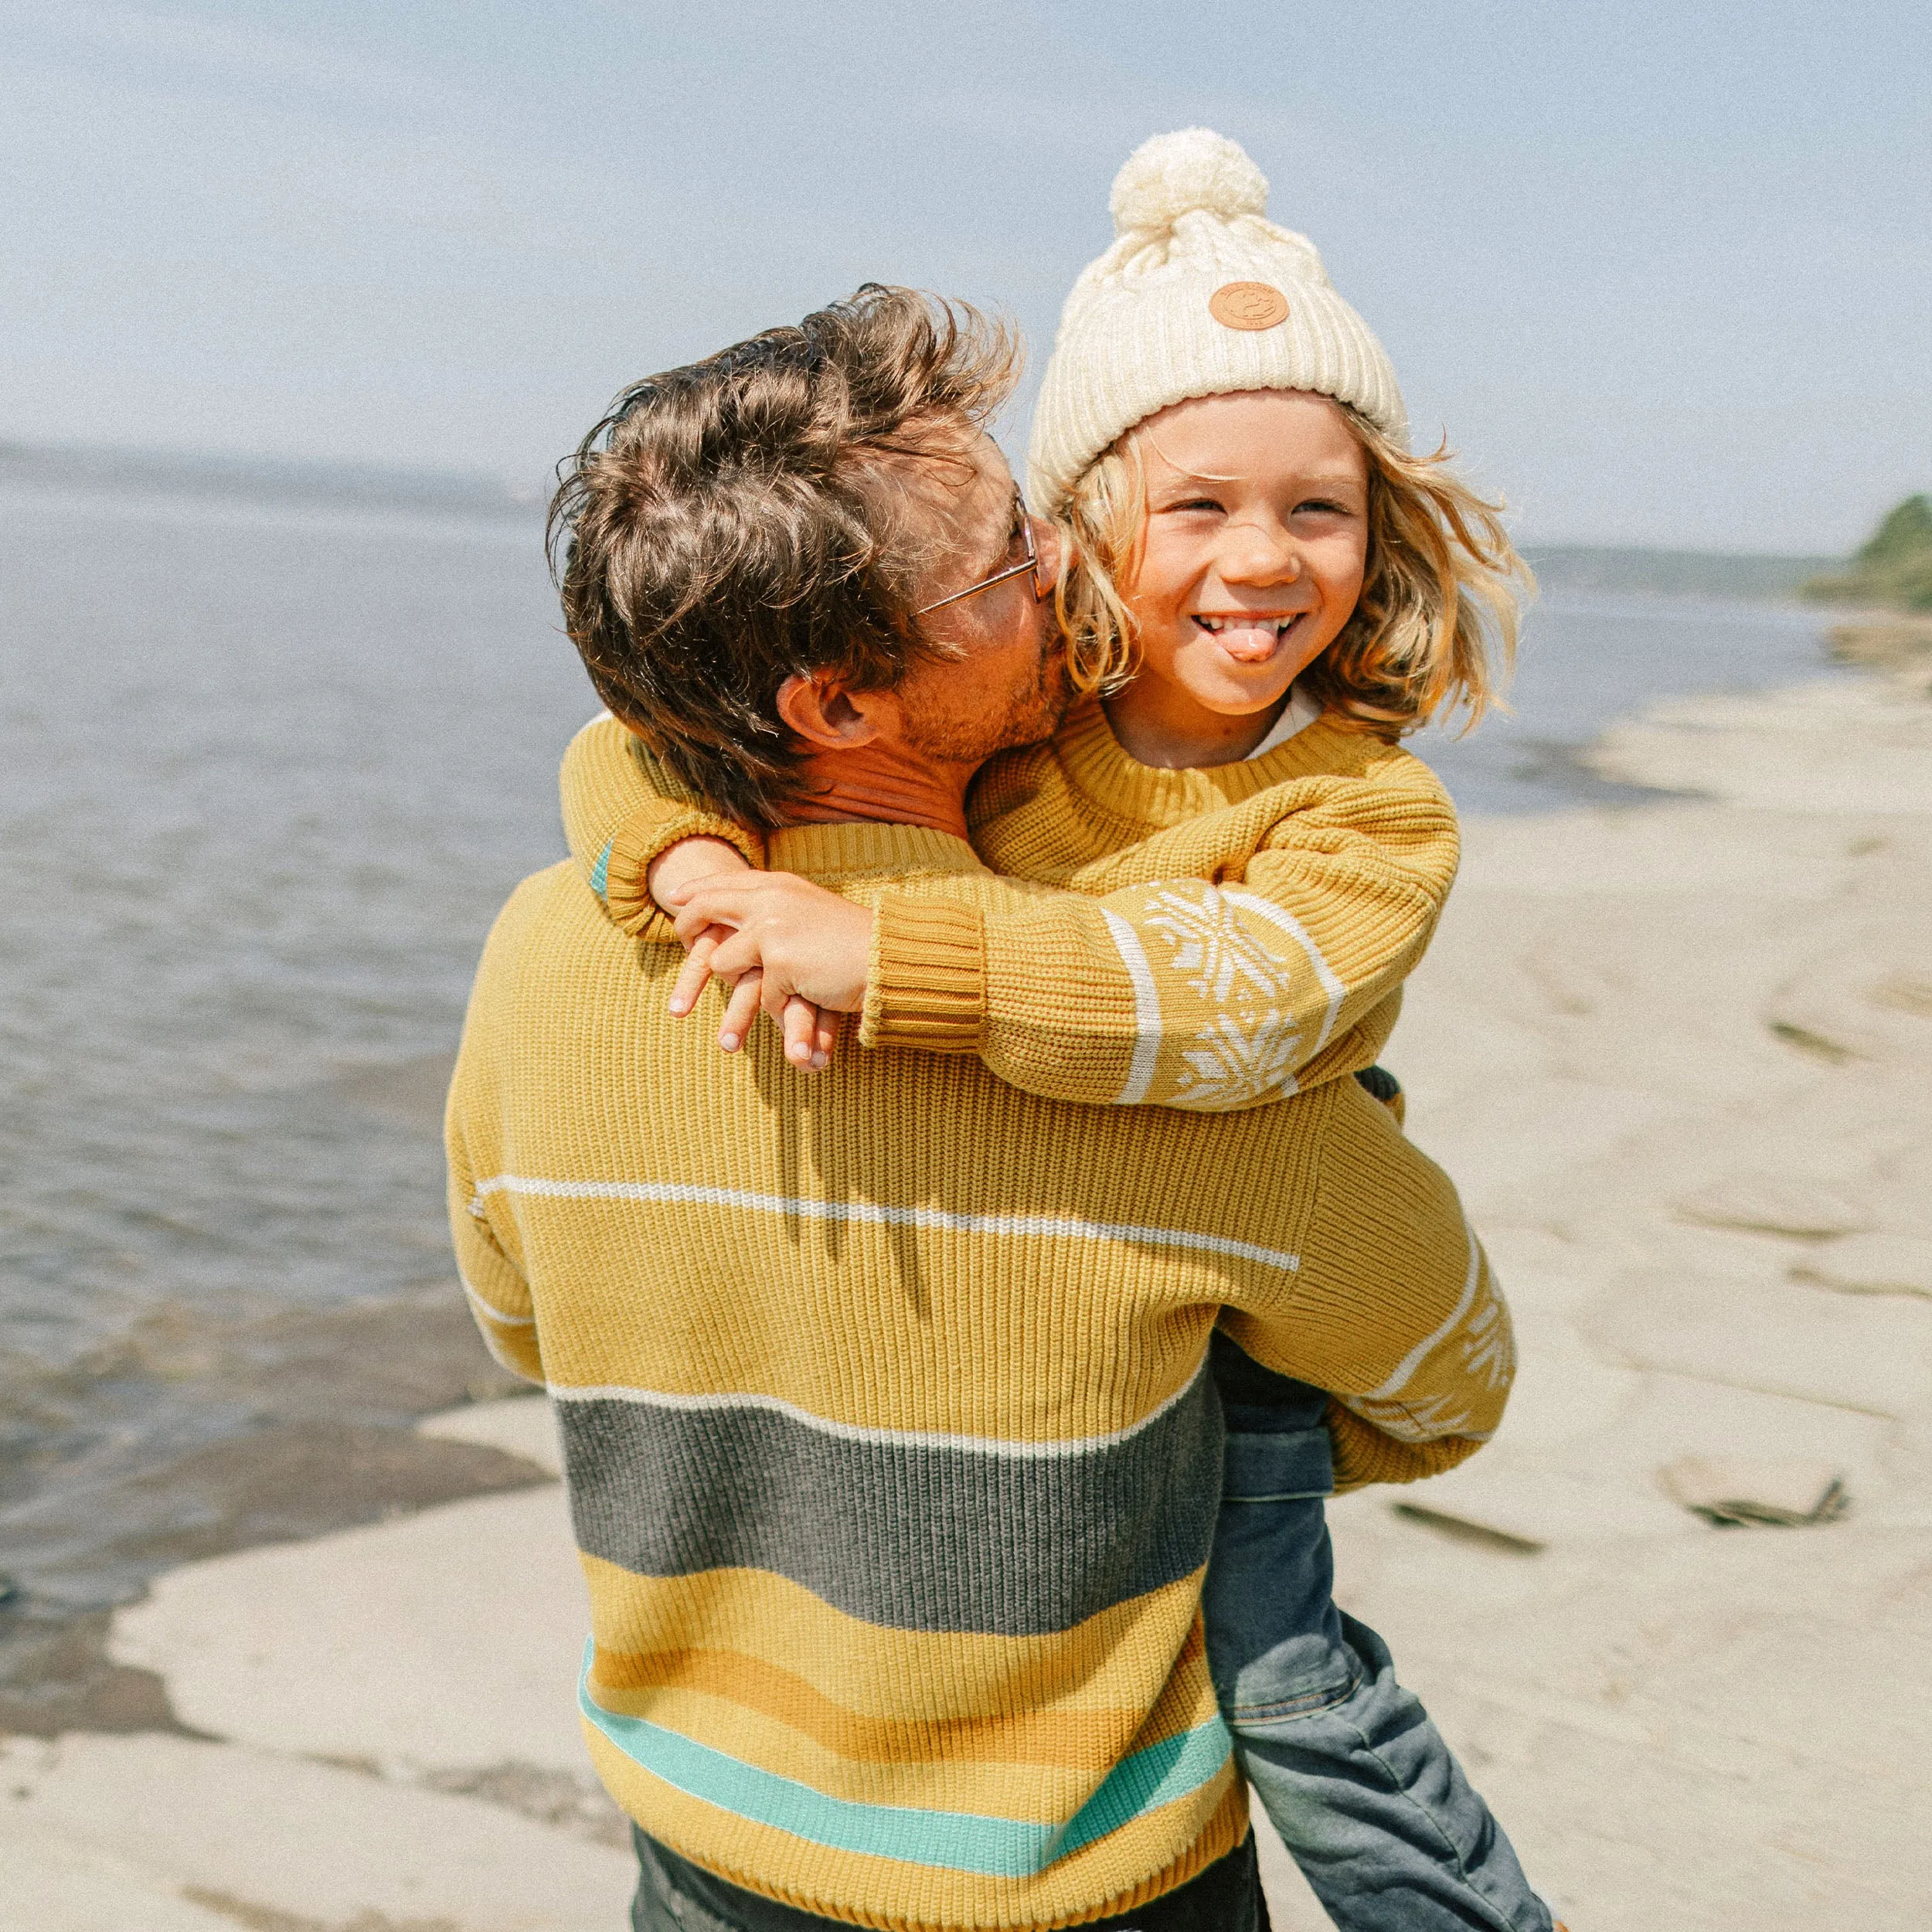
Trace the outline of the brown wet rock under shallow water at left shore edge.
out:
M 10 1405 L 31 1426 L 10 1480 L 44 1486 L 8 1522 L 0 1733 L 166 1721 L 158 1685 L 104 1650 L 112 1605 L 162 1571 L 527 1486 L 526 1463 L 412 1428 L 514 1387 L 448 1287 L 226 1321 L 162 1304 L 68 1374 L 35 1378 L 33 1406 Z M 143 1428 L 147 1389 L 218 1416 L 222 1434 Z

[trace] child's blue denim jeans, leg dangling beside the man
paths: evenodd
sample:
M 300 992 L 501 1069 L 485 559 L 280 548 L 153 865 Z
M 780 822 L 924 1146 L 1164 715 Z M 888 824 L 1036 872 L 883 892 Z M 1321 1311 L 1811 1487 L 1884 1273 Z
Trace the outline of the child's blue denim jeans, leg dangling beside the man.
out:
M 1227 1480 L 1202 1611 L 1235 1750 L 1345 1932 L 1549 1932 L 1549 1909 L 1383 1640 L 1335 1607 L 1327 1397 L 1225 1374 Z M 1244 1368 L 1252 1370 L 1242 1358 Z M 1246 1383 L 1246 1385 L 1242 1385 Z

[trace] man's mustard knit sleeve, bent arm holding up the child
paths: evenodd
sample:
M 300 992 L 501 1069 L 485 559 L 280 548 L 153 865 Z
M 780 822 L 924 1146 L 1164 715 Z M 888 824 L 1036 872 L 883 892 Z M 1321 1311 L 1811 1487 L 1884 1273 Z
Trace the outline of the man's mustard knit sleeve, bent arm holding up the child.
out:
M 1449 1177 L 1352 1080 L 1327 1090 L 1294 1287 L 1229 1310 L 1264 1368 L 1325 1389 L 1339 1490 L 1455 1466 L 1503 1418 L 1509 1308 Z

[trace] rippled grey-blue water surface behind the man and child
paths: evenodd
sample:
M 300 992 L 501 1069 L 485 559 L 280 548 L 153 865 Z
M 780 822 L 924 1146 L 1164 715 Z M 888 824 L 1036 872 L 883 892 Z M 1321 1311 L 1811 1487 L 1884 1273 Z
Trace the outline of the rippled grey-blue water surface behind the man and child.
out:
M 218 466 L 0 464 L 0 667 L 4 1689 L 10 1631 L 477 1480 L 381 1443 L 500 1385 L 440 1094 L 595 699 L 529 504 Z M 1418 750 L 1470 811 L 1636 800 L 1611 719 L 1826 674 L 1806 612 L 1549 597 L 1515 715 Z

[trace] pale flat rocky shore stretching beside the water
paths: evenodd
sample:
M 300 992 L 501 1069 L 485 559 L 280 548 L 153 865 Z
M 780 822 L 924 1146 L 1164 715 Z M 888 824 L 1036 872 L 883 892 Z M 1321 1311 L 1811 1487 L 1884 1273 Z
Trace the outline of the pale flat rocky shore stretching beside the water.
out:
M 1679 701 L 1590 763 L 1660 796 L 1470 821 L 1387 1055 L 1509 1291 L 1509 1420 L 1335 1505 L 1339 1594 L 1575 1932 L 1922 1922 L 1932 692 Z M 0 1737 L 0 1928 L 626 1922 L 547 1405 L 421 1430 L 529 1486 L 174 1569 L 108 1636 L 153 1727 Z

